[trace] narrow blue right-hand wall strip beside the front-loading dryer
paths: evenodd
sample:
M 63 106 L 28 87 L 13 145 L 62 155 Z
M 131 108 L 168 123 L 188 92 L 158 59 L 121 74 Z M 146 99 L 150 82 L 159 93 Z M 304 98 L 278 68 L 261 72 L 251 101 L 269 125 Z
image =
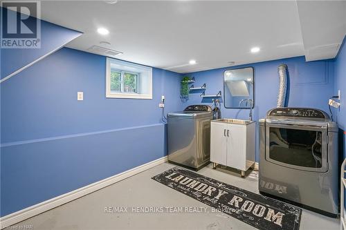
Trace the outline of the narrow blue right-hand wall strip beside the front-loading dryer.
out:
M 340 108 L 334 109 L 334 113 L 337 116 L 338 126 L 341 129 L 340 139 L 343 141 L 340 147 L 343 147 L 343 157 L 346 157 L 346 142 L 345 142 L 345 131 L 346 131 L 346 38 L 344 38 L 343 45 L 340 48 L 338 56 L 335 59 L 335 87 L 334 95 L 338 95 L 340 90 Z

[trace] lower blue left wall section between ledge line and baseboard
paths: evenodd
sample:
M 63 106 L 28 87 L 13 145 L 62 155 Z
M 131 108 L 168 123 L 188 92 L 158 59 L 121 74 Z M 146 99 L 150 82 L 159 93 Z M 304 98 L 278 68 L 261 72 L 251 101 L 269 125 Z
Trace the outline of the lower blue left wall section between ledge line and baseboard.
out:
M 165 126 L 1 148 L 1 216 L 165 156 Z

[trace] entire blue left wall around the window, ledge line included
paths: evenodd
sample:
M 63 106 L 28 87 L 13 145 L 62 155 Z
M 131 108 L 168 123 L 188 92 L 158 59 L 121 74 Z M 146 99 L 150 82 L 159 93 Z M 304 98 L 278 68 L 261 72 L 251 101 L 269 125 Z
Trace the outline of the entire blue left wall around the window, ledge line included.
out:
M 153 99 L 106 99 L 105 68 L 62 48 L 1 84 L 1 216 L 166 155 L 158 103 L 181 110 L 180 75 L 153 68 Z

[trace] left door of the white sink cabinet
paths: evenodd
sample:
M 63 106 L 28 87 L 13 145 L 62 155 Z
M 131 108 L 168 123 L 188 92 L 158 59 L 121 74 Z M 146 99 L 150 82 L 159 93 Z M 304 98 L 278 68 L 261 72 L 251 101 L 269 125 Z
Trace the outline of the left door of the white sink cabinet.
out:
M 210 131 L 210 161 L 218 164 L 227 164 L 226 160 L 226 124 L 211 122 Z

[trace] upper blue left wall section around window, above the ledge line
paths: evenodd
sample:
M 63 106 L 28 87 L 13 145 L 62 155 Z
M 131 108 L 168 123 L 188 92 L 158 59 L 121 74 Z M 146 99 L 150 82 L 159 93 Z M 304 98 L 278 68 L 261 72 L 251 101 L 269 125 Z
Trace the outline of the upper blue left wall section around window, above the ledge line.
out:
M 105 75 L 105 57 L 63 48 L 3 82 L 1 143 L 157 124 L 162 94 L 180 105 L 179 74 L 154 68 L 153 99 L 107 99 Z

